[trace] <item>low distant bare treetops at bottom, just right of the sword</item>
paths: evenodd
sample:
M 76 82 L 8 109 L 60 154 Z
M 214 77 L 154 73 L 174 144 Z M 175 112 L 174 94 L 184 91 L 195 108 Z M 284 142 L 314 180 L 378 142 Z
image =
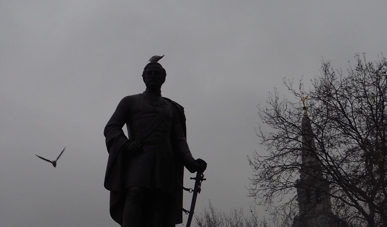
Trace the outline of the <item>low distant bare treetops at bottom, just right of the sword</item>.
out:
M 268 227 L 266 220 L 259 221 L 255 207 L 250 205 L 250 215 L 245 215 L 243 209 L 234 208 L 230 213 L 216 209 L 211 201 L 208 208 L 195 216 L 196 227 Z M 259 224 L 259 225 L 258 225 Z

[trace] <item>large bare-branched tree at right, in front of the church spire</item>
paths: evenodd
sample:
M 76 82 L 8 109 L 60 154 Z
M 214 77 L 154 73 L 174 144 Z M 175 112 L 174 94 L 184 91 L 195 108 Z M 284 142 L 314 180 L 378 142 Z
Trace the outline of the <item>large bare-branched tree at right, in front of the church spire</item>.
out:
M 263 125 L 272 130 L 264 132 L 263 125 L 256 130 L 269 154 L 255 152 L 248 159 L 250 196 L 268 208 L 276 223 L 291 226 L 298 213 L 297 179 L 311 168 L 301 162 L 304 113 L 297 103 L 308 95 L 310 150 L 321 179 L 330 185 L 324 193 L 332 198 L 332 210 L 349 225 L 387 226 L 387 59 L 367 62 L 365 54 L 355 59 L 346 76 L 323 61 L 307 93 L 301 81 L 295 88 L 284 79 L 293 100 L 280 99 L 275 90 L 266 107 L 258 106 Z

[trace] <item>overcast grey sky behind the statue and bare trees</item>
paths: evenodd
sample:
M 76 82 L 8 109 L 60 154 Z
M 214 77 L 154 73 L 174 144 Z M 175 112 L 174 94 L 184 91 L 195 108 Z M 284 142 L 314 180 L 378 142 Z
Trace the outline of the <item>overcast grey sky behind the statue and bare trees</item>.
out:
M 103 128 L 122 97 L 144 91 L 147 60 L 163 54 L 162 95 L 185 107 L 192 154 L 208 163 L 196 211 L 211 200 L 248 213 L 246 156 L 265 152 L 254 132 L 256 105 L 273 87 L 286 93 L 285 76 L 307 83 L 319 75 L 322 58 L 344 71 L 355 53 L 369 60 L 386 53 L 386 8 L 386 1 L 0 1 L 0 225 L 117 226 L 103 187 Z M 64 146 L 55 169 L 35 156 L 55 159 Z

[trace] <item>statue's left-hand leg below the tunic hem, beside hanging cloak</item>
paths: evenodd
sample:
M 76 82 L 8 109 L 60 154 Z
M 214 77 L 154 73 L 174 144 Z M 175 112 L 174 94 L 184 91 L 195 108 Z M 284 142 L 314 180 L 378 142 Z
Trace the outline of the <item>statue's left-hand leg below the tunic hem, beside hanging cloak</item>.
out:
M 143 227 L 146 188 L 130 186 L 123 208 L 123 227 Z

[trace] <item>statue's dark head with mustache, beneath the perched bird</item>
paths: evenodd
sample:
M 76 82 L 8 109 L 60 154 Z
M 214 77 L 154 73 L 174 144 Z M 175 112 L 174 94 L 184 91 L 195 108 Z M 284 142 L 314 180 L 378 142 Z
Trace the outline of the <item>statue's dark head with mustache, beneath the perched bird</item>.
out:
M 166 71 L 160 63 L 148 63 L 142 71 L 142 80 L 150 90 L 160 90 L 165 82 Z

